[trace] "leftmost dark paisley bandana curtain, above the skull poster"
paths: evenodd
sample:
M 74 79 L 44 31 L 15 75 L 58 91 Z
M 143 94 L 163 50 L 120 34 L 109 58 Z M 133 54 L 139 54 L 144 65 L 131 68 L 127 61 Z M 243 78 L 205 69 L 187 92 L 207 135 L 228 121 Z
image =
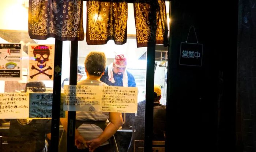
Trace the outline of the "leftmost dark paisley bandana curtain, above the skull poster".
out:
M 83 40 L 83 1 L 29 0 L 31 39 Z

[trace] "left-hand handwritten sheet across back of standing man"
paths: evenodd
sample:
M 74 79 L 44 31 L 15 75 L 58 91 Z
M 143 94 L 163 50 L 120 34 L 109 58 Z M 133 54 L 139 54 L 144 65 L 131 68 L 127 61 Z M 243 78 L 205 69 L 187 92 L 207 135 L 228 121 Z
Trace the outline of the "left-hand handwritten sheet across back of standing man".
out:
M 101 87 L 94 85 L 64 85 L 66 111 L 94 111 L 101 108 Z

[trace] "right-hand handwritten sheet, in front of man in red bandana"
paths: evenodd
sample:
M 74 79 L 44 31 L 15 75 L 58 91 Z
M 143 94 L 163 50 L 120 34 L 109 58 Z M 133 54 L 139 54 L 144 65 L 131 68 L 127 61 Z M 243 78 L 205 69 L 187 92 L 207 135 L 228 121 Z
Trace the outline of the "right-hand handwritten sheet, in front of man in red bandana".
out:
M 138 88 L 103 87 L 102 112 L 137 112 Z

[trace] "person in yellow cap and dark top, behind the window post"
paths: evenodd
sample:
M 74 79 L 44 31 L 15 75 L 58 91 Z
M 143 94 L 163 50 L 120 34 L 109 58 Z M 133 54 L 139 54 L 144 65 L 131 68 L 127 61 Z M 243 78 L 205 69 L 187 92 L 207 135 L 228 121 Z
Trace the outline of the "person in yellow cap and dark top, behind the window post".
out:
M 166 106 L 160 104 L 161 86 L 154 84 L 153 140 L 165 140 Z M 146 100 L 138 103 L 138 114 L 132 121 L 132 137 L 127 152 L 133 152 L 134 140 L 144 140 Z

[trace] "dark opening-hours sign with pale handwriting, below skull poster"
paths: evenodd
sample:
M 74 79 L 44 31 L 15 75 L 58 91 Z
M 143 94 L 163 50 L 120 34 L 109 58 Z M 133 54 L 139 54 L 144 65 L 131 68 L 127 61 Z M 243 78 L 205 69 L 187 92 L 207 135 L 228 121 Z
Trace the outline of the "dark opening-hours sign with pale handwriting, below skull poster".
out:
M 29 93 L 29 117 L 51 118 L 52 97 L 53 93 Z M 60 109 L 60 117 L 65 117 L 63 106 L 61 107 L 62 108 Z

